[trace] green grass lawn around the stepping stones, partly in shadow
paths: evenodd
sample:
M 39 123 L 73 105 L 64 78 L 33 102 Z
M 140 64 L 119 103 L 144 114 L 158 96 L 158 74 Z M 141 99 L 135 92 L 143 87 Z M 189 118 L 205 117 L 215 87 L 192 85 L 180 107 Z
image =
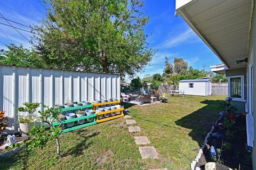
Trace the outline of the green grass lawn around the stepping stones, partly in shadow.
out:
M 225 97 L 171 97 L 169 103 L 131 106 L 141 132 L 129 133 L 124 118 L 61 135 L 63 157 L 55 158 L 55 142 L 41 150 L 21 151 L 0 160 L 0 169 L 190 169 Z M 159 159 L 142 160 L 134 135 L 146 135 Z

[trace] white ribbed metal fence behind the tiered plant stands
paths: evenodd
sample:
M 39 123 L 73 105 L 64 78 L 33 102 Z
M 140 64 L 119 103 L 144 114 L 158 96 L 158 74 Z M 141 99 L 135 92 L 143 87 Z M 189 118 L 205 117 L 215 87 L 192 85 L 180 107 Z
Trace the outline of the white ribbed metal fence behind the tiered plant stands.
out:
M 54 106 L 101 98 L 119 100 L 118 74 L 0 65 L 0 111 L 9 116 L 7 133 L 18 132 L 17 108 L 25 102 Z

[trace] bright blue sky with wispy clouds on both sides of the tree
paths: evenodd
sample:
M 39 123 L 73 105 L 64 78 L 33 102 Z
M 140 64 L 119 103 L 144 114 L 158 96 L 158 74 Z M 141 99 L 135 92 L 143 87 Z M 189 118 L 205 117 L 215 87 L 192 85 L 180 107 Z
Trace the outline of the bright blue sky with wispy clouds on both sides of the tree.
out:
M 150 63 L 159 65 L 159 67 L 146 66 L 142 73 L 138 73 L 141 78 L 145 74 L 162 74 L 164 56 L 167 56 L 170 62 L 173 62 L 174 57 L 182 57 L 196 69 L 202 69 L 205 64 L 206 70 L 210 70 L 210 65 L 221 63 L 187 23 L 180 16 L 174 16 L 174 0 L 145 0 L 142 11 L 149 16 L 149 23 L 145 27 L 145 33 L 151 35 L 148 38 L 149 47 L 157 50 Z M 45 7 L 41 0 L 5 0 L 0 1 L 0 13 L 7 19 L 32 25 L 41 23 L 45 15 Z M 1 18 L 0 22 L 7 24 Z M 19 28 L 29 29 L 15 23 L 12 24 Z M 30 47 L 28 41 L 13 28 L 0 24 L 0 29 L 0 48 L 5 48 L 6 44 L 11 43 L 9 38 L 14 44 Z M 28 39 L 31 36 L 29 32 L 20 32 Z

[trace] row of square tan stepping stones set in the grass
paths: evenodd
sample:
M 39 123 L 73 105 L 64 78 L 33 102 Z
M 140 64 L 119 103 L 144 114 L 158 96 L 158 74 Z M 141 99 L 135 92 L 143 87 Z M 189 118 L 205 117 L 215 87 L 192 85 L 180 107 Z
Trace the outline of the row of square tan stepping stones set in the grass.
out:
M 125 115 L 124 118 L 131 118 L 130 115 Z M 136 121 L 132 119 L 126 119 L 126 124 L 135 124 Z M 129 126 L 128 127 L 129 132 L 140 132 L 139 126 Z M 149 144 L 149 140 L 147 137 L 134 137 L 135 144 L 136 145 L 144 145 L 143 147 L 139 147 L 140 155 L 142 159 L 158 159 L 158 154 L 155 147 L 148 147 L 145 146 Z

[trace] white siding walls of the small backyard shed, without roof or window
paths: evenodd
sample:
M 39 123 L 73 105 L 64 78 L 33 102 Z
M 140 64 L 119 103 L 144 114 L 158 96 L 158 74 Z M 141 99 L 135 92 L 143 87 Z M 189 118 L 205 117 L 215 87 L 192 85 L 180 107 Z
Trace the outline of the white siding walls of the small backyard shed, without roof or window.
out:
M 194 83 L 194 88 L 189 88 L 189 83 Z M 184 90 L 185 95 L 207 96 L 206 82 L 180 82 L 179 90 Z

